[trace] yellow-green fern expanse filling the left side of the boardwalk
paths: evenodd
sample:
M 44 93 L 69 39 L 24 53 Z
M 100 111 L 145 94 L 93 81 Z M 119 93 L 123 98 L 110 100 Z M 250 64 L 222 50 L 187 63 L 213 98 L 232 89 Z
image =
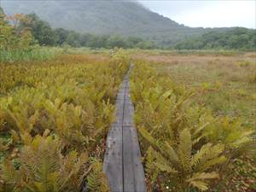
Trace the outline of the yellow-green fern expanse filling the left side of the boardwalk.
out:
M 0 191 L 109 191 L 102 172 L 128 58 L 1 64 Z

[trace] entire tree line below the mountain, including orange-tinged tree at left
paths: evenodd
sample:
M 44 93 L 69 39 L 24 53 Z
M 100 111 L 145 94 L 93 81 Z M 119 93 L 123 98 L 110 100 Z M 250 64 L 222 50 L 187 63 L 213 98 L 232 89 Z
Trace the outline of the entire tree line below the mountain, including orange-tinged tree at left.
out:
M 32 44 L 46 46 L 90 47 L 112 49 L 256 49 L 256 30 L 235 27 L 225 32 L 207 32 L 196 38 L 187 38 L 169 48 L 137 37 L 119 35 L 81 34 L 63 28 L 52 28 L 36 14 L 6 16 L 0 8 L 0 48 L 29 48 Z

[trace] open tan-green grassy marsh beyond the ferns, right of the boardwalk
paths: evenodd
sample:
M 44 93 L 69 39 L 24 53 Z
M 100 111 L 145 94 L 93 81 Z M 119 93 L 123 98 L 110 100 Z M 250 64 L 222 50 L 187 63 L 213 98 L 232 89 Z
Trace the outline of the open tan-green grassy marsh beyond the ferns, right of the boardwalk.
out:
M 194 102 L 213 113 L 241 117 L 256 127 L 256 54 L 141 54 L 177 84 L 195 92 Z

